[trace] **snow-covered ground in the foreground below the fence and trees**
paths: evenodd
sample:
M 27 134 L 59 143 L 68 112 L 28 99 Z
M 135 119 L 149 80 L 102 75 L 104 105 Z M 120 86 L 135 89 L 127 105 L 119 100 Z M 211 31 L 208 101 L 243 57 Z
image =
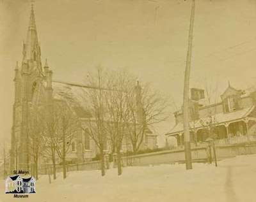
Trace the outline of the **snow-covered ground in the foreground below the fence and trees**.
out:
M 17 199 L 4 194 L 4 181 L 0 184 L 0 201 L 77 202 L 77 201 L 256 201 L 256 155 L 241 155 L 214 164 L 193 164 L 185 170 L 184 164 L 124 168 L 122 176 L 116 169 L 108 170 L 105 177 L 100 171 L 68 173 L 63 180 L 49 184 L 42 176 L 36 182 L 36 194 Z

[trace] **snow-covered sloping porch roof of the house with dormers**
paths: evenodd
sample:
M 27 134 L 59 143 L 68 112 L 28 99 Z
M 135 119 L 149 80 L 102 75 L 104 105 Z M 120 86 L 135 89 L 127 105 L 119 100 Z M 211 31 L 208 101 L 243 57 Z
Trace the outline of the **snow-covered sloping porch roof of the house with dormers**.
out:
M 255 108 L 255 106 L 250 106 L 248 108 L 243 108 L 243 110 L 238 110 L 236 112 L 230 112 L 230 113 L 217 113 L 216 115 L 212 116 L 212 122 L 214 122 L 214 125 L 220 125 L 220 124 L 224 124 L 226 122 L 232 122 L 234 120 L 239 120 L 239 119 L 243 119 L 245 117 L 247 117 L 250 112 L 252 112 L 252 110 Z M 209 123 L 210 121 L 210 117 L 204 117 L 201 119 L 198 119 L 194 122 L 190 122 L 190 128 L 194 127 L 195 124 L 195 129 L 199 129 L 199 128 L 204 128 L 206 126 L 208 126 L 209 124 L 207 124 L 207 122 Z M 181 133 L 184 130 L 184 126 L 183 126 L 183 122 L 179 122 L 178 124 L 176 124 L 170 132 L 166 133 L 166 135 L 174 135 L 177 133 Z

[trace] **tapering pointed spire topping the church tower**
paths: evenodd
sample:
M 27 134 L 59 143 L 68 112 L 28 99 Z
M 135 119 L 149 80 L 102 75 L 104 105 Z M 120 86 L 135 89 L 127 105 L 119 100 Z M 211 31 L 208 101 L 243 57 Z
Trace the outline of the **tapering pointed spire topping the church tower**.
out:
M 34 5 L 32 3 L 27 38 L 23 45 L 23 62 L 36 61 L 37 64 L 40 64 L 40 56 L 41 53 L 36 32 Z

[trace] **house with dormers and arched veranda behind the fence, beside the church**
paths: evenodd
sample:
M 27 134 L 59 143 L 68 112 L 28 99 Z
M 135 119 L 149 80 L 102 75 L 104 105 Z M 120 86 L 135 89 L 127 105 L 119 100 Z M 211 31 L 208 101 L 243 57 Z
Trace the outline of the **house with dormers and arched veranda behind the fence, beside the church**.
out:
M 226 140 L 256 141 L 256 88 L 238 90 L 228 85 L 220 96 L 220 102 L 205 105 L 205 96 L 191 89 L 189 118 L 190 141 L 202 143 L 209 136 L 219 142 Z M 207 98 L 206 98 L 207 99 Z M 183 112 L 174 113 L 175 126 L 166 133 L 166 142 L 172 145 L 173 138 L 177 146 L 184 144 Z M 240 138 L 239 138 L 240 137 Z M 234 142 L 237 143 L 237 142 Z

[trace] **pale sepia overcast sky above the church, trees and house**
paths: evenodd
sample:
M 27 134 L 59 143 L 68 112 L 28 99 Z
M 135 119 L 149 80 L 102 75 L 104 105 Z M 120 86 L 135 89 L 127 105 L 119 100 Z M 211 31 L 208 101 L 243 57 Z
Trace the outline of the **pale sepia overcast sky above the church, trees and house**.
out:
M 128 69 L 179 107 L 190 7 L 184 0 L 37 0 L 42 61 L 48 59 L 54 79 L 77 83 L 99 64 Z M 13 69 L 22 59 L 30 5 L 1 0 L 0 8 L 0 138 L 8 140 Z M 221 93 L 228 80 L 237 89 L 255 83 L 255 31 L 255 0 L 196 0 L 191 86 L 217 86 Z M 170 119 L 159 133 L 172 126 Z

